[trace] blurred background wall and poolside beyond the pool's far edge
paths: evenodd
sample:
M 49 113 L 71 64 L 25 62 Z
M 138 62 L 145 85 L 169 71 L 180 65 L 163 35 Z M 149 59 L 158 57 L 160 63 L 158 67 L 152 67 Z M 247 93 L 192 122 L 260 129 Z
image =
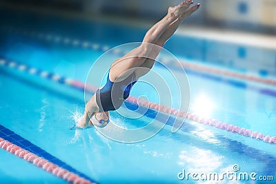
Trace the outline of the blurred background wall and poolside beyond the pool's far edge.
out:
M 1 5 L 157 21 L 179 0 L 1 0 Z M 275 0 L 202 0 L 188 25 L 276 34 Z

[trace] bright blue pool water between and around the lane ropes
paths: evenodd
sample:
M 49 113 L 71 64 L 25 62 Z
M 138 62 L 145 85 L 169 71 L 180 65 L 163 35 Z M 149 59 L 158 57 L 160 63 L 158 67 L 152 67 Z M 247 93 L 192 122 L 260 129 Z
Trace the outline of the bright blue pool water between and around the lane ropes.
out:
M 2 11 L 1 14 L 8 16 L 9 12 Z M 16 16 L 10 14 L 12 23 L 3 19 L 1 24 L 23 30 L 62 34 L 64 37 L 110 46 L 140 41 L 146 31 L 127 26 L 119 28 L 117 25 L 99 22 L 54 19 L 52 16 L 43 17 L 44 23 L 39 23 L 41 19 L 32 17 L 30 13 L 23 15 L 15 19 Z M 26 22 L 30 17 L 34 25 Z M 90 65 L 103 54 L 99 50 L 40 40 L 8 30 L 1 30 L 0 40 L 2 57 L 83 83 Z M 182 43 L 185 46 L 179 47 Z M 188 43 L 192 44 L 193 51 L 184 52 Z M 201 45 L 200 50 L 196 50 L 197 45 Z M 215 60 L 219 61 L 219 57 L 213 59 L 204 54 L 208 48 L 213 48 L 213 45 L 219 43 L 176 35 L 166 48 L 189 62 L 228 68 L 228 63 L 215 63 Z M 226 46 L 235 48 L 235 45 Z M 244 48 L 239 45 L 238 50 L 240 47 Z M 269 59 L 273 65 L 275 50 L 248 50 L 272 53 Z M 218 55 L 223 55 L 225 50 L 217 52 Z M 226 57 L 231 55 L 232 52 L 229 52 Z M 245 57 L 240 52 L 242 51 L 239 50 L 239 57 Z M 230 60 L 230 57 L 228 58 Z M 237 61 L 233 60 L 230 70 L 259 74 L 259 70 L 255 71 L 255 68 L 238 68 L 233 64 L 235 62 Z M 261 69 L 264 71 L 264 68 Z M 155 65 L 153 70 L 157 73 L 165 72 L 160 65 Z M 175 68 L 176 72 L 177 70 Z M 269 77 L 275 76 L 272 69 L 265 71 Z M 186 73 L 190 84 L 190 112 L 276 136 L 276 99 L 273 93 L 276 91 L 275 87 L 224 76 L 206 75 L 194 70 L 186 70 Z M 184 183 L 187 181 L 177 178 L 177 174 L 184 169 L 186 172 L 223 173 L 233 171 L 234 164 L 239 165 L 241 172 L 257 172 L 259 175 L 276 177 L 275 145 L 193 121 L 186 121 L 178 132 L 172 134 L 170 124 L 173 117 L 167 122 L 168 125 L 151 139 L 139 143 L 119 143 L 106 138 L 94 128 L 70 130 L 75 123 L 74 114 L 81 114 L 84 110 L 81 90 L 3 66 L 0 67 L 0 88 L 0 112 L 3 114 L 0 124 L 3 127 L 99 183 Z M 131 95 L 145 94 L 150 96 L 148 98 L 151 101 L 155 101 L 153 91 L 149 88 L 144 92 L 145 88 L 142 83 L 137 83 Z M 264 90 L 270 92 L 265 93 Z M 132 120 L 123 118 L 117 112 L 110 112 L 110 119 L 123 127 L 135 128 L 151 121 L 152 114 L 154 113 L 148 112 L 145 116 Z M 65 183 L 6 151 L 1 150 L 0 155 L 1 183 Z M 193 180 L 188 182 L 196 183 Z

